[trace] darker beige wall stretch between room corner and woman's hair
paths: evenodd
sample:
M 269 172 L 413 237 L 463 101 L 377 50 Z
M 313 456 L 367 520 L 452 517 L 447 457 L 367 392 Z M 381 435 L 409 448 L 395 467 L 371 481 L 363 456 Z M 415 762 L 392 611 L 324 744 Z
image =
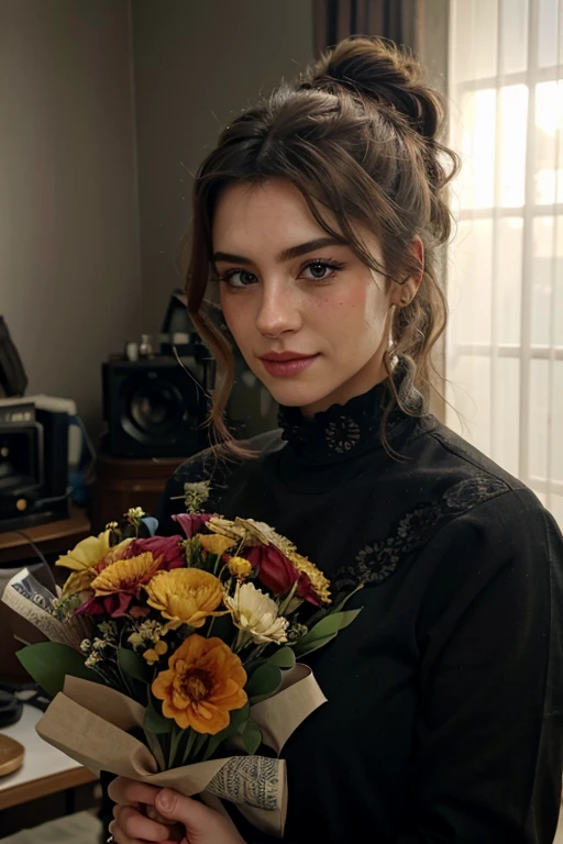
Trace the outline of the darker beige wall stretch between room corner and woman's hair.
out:
M 144 325 L 183 279 L 191 174 L 220 127 L 312 57 L 311 0 L 133 0 Z

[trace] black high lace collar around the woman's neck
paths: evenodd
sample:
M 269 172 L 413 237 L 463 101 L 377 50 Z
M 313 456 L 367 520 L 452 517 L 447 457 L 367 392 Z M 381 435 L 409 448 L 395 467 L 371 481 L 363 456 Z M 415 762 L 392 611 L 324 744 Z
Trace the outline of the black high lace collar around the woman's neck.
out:
M 305 418 L 299 408 L 279 409 L 283 437 L 301 466 L 327 466 L 383 447 L 382 421 L 389 397 L 387 381 L 345 404 Z M 389 442 L 410 420 L 397 407 L 386 421 Z

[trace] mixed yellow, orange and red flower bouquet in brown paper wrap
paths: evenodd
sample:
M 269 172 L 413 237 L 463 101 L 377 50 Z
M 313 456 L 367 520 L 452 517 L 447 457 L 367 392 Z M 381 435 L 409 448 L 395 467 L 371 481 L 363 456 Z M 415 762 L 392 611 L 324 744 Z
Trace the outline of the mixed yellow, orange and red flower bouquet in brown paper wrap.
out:
M 38 601 L 25 574 L 2 600 L 32 603 L 51 640 L 19 652 L 54 697 L 40 735 L 93 770 L 230 800 L 282 836 L 282 748 L 325 702 L 300 660 L 360 610 L 333 606 L 327 577 L 269 525 L 200 512 L 199 486 L 176 535 L 131 509 L 58 559 L 58 596 L 41 587 Z

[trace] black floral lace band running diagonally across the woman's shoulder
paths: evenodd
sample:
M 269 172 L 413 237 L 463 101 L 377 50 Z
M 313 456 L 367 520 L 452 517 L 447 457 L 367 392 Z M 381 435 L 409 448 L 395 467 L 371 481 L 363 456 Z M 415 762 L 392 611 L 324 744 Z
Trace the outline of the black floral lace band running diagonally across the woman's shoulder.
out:
M 432 530 L 443 519 L 465 513 L 508 489 L 508 485 L 499 478 L 478 473 L 451 487 L 441 499 L 419 504 L 400 519 L 393 533 L 365 545 L 355 563 L 340 570 L 335 591 L 349 589 L 351 585 L 382 584 L 412 551 L 429 541 Z

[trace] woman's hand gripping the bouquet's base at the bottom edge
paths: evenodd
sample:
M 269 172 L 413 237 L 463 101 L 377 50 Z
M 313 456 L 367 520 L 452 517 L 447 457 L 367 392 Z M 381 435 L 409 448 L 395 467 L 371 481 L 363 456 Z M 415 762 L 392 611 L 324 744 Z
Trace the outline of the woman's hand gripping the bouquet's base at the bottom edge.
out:
M 184 826 L 181 844 L 244 844 L 229 818 L 169 788 L 154 788 L 118 777 L 110 784 L 108 793 L 117 803 L 110 832 L 118 844 L 170 841 L 170 828 L 147 818 L 143 804 L 154 807 L 164 818 Z

